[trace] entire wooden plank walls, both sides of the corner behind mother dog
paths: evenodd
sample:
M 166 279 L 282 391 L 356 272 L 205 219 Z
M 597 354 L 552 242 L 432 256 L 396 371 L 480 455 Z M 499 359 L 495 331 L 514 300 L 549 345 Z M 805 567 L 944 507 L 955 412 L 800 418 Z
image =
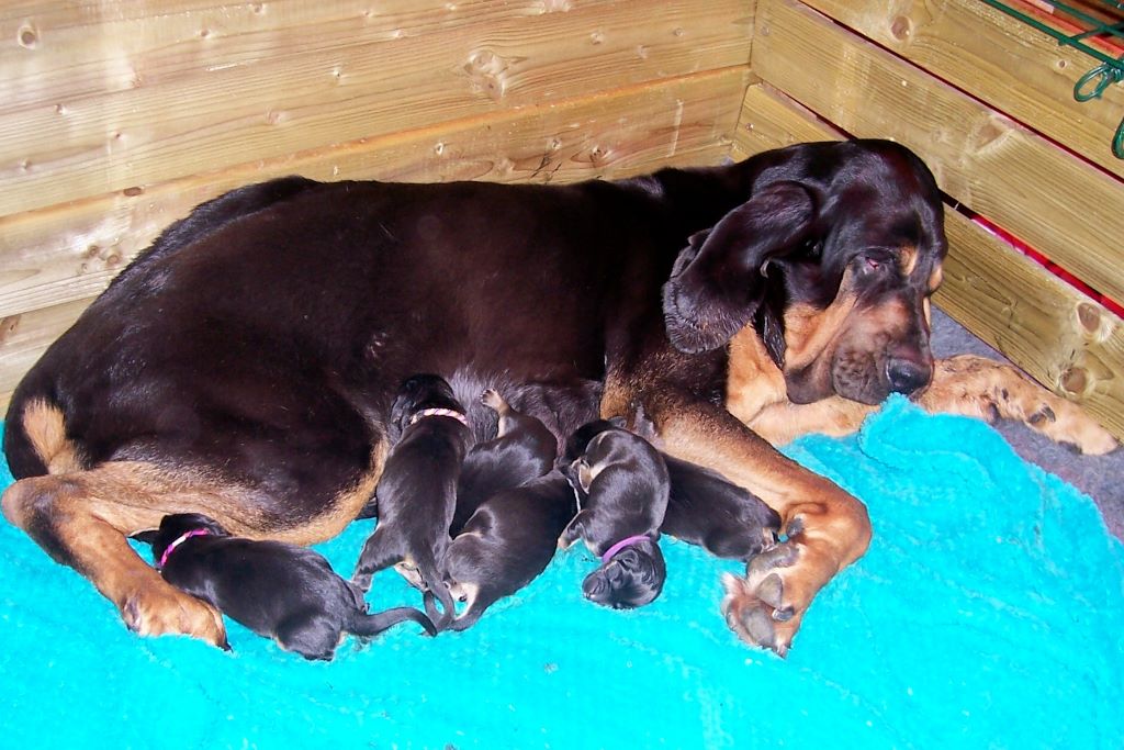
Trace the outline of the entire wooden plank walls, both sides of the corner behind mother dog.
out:
M 0 405 L 239 184 L 615 178 L 853 135 L 916 150 L 957 207 L 939 302 L 1124 435 L 1121 320 L 959 210 L 1124 299 L 1124 87 L 1075 102 L 1089 66 L 976 0 L 6 2 Z

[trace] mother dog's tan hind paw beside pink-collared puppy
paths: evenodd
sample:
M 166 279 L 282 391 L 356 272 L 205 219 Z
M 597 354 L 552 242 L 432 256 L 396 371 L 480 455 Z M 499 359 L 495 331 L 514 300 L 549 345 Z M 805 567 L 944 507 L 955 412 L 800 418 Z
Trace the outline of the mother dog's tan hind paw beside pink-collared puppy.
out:
M 160 581 L 138 588 L 120 605 L 125 625 L 140 635 L 190 635 L 229 650 L 218 609 Z

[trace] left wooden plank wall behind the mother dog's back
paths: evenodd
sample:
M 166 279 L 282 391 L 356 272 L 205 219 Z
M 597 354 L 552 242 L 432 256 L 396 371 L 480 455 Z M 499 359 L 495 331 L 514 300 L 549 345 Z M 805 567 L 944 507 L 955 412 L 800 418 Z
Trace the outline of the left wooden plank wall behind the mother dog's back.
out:
M 751 25 L 749 0 L 3 3 L 0 405 L 161 228 L 229 188 L 717 163 Z

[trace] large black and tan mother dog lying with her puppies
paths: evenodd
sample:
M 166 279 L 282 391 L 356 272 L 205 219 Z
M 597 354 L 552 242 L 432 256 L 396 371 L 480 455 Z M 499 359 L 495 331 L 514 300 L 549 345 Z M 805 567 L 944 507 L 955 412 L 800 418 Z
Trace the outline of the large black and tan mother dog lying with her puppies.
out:
M 127 535 L 203 513 L 236 535 L 317 542 L 370 499 L 407 376 L 495 387 L 560 443 L 597 416 L 572 400 L 593 380 L 601 416 L 643 409 L 663 450 L 780 513 L 785 549 L 722 606 L 783 653 L 871 528 L 771 442 L 854 430 L 897 391 L 1115 445 L 1010 368 L 933 361 L 944 254 L 932 175 L 878 141 L 568 187 L 246 187 L 164 232 L 26 376 L 3 513 L 129 627 L 218 644 L 219 614 Z

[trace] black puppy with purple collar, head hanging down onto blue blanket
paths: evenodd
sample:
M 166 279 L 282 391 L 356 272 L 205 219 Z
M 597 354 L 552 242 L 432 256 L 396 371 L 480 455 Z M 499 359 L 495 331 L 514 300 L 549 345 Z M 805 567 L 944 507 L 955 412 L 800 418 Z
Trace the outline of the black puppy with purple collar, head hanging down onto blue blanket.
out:
M 659 545 L 669 496 L 663 458 L 643 437 L 605 421 L 579 427 L 566 449 L 572 460 L 564 472 L 581 501 L 559 545 L 581 539 L 601 558 L 582 591 L 614 608 L 649 604 L 667 578 Z

